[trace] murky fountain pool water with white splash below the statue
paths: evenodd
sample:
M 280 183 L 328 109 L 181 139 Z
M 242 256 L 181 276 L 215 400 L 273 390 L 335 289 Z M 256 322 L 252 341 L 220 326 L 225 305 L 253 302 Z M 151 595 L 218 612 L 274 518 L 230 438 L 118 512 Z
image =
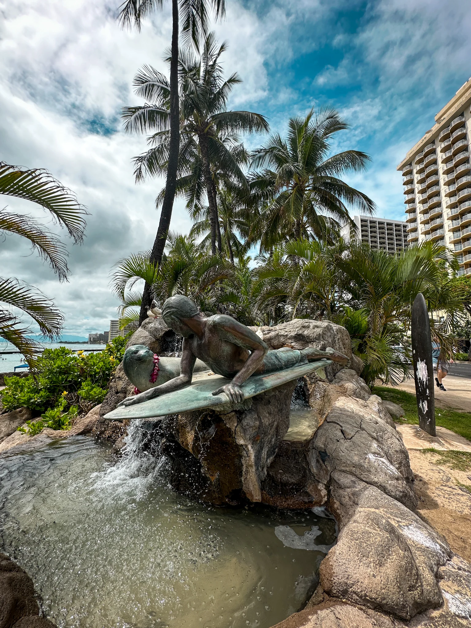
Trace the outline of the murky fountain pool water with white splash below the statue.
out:
M 83 436 L 0 460 L 3 549 L 46 614 L 61 627 L 268 628 L 299 610 L 334 522 L 192 502 L 162 458 L 133 450 L 133 425 L 117 465 Z

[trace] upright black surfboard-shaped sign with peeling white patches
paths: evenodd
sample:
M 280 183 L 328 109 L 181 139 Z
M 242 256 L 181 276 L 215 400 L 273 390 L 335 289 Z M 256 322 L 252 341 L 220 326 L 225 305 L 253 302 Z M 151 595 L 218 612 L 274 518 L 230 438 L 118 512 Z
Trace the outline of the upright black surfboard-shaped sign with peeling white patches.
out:
M 419 426 L 427 434 L 435 436 L 435 391 L 430 320 L 425 298 L 421 292 L 414 299 L 412 306 L 411 334 Z

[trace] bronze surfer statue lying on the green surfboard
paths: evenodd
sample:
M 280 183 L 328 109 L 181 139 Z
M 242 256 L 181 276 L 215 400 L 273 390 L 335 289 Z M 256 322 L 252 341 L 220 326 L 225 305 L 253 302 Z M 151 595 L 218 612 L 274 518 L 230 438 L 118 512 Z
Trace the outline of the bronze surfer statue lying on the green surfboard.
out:
M 214 395 L 227 394 L 231 403 L 244 399 L 241 385 L 252 374 L 263 374 L 272 371 L 282 371 L 294 366 L 306 364 L 313 360 L 328 359 L 340 364 L 348 364 L 346 355 L 340 354 L 330 347 L 326 351 L 319 349 L 297 350 L 283 347 L 268 350 L 268 346 L 252 332 L 234 318 L 225 314 L 216 314 L 205 317 L 195 303 L 187 296 L 175 295 L 165 301 L 162 307 L 162 318 L 166 325 L 176 334 L 183 336 L 182 354 L 180 360 L 180 375 L 137 394 L 127 397 L 119 404 L 131 406 L 136 403 L 154 399 L 161 394 L 176 391 L 191 384 L 195 364 L 203 362 L 214 373 L 232 379 L 214 391 Z M 147 350 L 146 347 L 129 347 L 124 355 L 124 370 L 133 352 Z M 201 361 L 201 362 L 200 362 Z M 157 380 L 158 381 L 158 380 Z

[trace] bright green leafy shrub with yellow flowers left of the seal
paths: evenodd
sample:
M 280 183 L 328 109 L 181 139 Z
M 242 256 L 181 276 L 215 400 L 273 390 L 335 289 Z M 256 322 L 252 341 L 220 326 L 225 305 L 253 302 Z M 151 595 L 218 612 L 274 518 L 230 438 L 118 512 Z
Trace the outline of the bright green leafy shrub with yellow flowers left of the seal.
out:
M 122 360 L 126 342 L 127 337 L 114 338 L 106 349 L 90 354 L 75 354 L 66 347 L 45 349 L 34 374 L 5 378 L 6 387 L 0 391 L 4 410 L 63 411 L 68 399 L 77 403 L 77 394 L 90 403 L 101 403 Z

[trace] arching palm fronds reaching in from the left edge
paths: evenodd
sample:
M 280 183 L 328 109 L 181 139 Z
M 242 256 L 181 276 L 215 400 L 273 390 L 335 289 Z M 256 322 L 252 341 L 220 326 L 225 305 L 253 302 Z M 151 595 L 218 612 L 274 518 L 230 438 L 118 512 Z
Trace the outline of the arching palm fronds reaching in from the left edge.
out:
M 23 198 L 41 205 L 65 228 L 75 243 L 84 238 L 85 208 L 75 195 L 46 170 L 27 170 L 0 162 L 0 195 Z M 0 209 L 0 231 L 23 236 L 33 249 L 47 261 L 60 281 L 67 279 L 67 249 L 57 236 L 48 232 L 28 215 L 14 214 Z M 16 278 L 0 277 L 0 301 L 23 310 L 40 327 L 41 333 L 51 340 L 62 328 L 63 318 L 53 302 L 33 286 Z M 0 306 L 0 336 L 17 347 L 28 361 L 34 364 L 36 343 L 26 337 L 28 328 L 11 311 Z

